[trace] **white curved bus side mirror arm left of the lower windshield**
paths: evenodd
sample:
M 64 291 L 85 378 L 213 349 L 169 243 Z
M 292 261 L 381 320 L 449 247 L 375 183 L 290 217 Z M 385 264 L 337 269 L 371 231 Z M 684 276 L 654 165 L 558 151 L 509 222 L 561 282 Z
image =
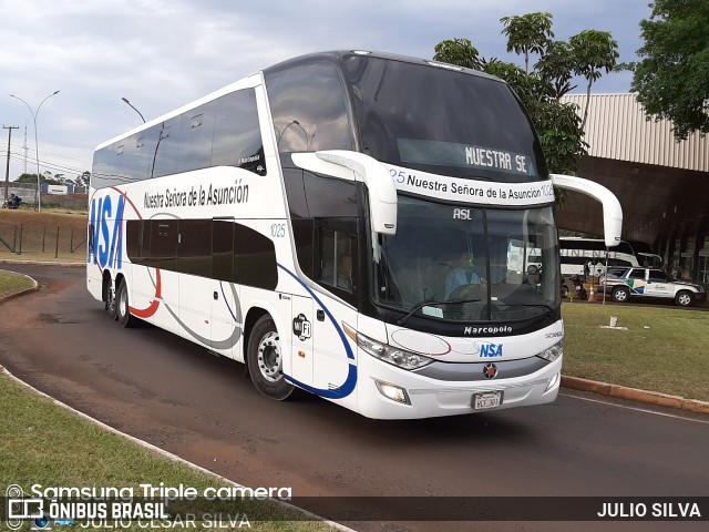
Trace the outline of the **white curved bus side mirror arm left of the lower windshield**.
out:
M 332 175 L 341 180 L 367 185 L 372 232 L 381 235 L 397 234 L 397 188 L 379 161 L 363 153 L 346 150 L 328 150 L 311 153 L 294 153 L 292 162 L 310 172 Z

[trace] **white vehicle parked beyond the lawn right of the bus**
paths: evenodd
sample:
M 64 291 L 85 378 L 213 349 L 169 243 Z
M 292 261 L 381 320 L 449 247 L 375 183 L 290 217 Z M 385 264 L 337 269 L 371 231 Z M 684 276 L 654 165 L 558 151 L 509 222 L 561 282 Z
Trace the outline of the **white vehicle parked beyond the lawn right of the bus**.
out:
M 688 307 L 707 299 L 702 286 L 672 279 L 661 269 L 613 268 L 599 282 L 606 294 L 610 294 L 617 303 L 625 303 L 630 297 L 666 297 L 675 299 L 681 307 Z

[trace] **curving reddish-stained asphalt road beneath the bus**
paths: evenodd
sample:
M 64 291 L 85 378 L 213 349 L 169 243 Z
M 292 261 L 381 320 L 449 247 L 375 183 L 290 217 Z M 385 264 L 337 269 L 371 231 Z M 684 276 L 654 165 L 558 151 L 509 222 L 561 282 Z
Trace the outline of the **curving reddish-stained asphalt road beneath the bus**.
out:
M 119 430 L 246 485 L 291 487 L 296 497 L 709 495 L 707 416 L 571 390 L 548 406 L 397 422 L 312 396 L 270 401 L 237 362 L 154 327 L 110 321 L 85 290 L 83 268 L 1 267 L 32 276 L 40 290 L 0 306 L 0 364 Z M 359 521 L 372 500 L 357 503 L 348 515 L 358 522 L 348 524 L 362 531 L 706 526 L 381 523 Z

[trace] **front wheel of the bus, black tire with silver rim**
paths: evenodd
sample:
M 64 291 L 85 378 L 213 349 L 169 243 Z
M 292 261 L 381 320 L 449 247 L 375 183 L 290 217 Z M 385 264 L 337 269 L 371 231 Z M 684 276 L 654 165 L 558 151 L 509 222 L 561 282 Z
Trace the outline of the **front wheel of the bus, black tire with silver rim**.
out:
M 290 397 L 295 387 L 284 377 L 280 337 L 269 315 L 261 316 L 251 329 L 246 356 L 251 381 L 261 396 L 277 401 Z

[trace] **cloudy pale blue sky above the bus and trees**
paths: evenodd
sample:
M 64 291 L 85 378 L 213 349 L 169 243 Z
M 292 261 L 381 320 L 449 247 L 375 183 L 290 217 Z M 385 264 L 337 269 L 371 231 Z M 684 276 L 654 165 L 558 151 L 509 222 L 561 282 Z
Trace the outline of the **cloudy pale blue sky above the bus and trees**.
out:
M 91 171 L 97 144 L 142 123 L 122 98 L 150 121 L 304 53 L 363 49 L 430 59 L 435 44 L 454 38 L 470 39 L 484 58 L 523 65 L 506 52 L 500 19 L 538 11 L 552 13 L 556 39 L 609 31 L 618 61 L 629 62 L 643 45 L 638 24 L 650 16 L 648 2 L 0 0 L 0 122 L 19 126 L 11 130 L 10 181 L 24 171 L 25 152 L 27 172 L 37 173 L 33 114 L 40 172 L 74 178 Z M 628 92 L 630 79 L 605 74 L 594 93 Z M 579 83 L 573 92 L 584 91 Z M 2 181 L 8 132 L 0 134 Z

